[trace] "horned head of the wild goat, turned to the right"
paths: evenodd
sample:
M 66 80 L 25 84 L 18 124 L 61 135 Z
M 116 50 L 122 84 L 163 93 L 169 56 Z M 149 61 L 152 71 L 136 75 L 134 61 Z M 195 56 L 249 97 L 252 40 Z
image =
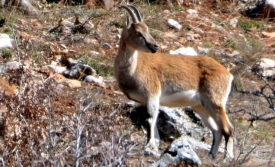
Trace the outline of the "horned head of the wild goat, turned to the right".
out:
M 155 53 L 159 49 L 159 45 L 149 34 L 149 29 L 142 22 L 143 18 L 141 18 L 138 9 L 132 5 L 123 5 L 121 7 L 129 12 L 133 20 L 133 23 L 130 24 L 129 16 L 126 18 L 121 36 L 123 42 L 126 42 L 127 45 L 134 49 Z

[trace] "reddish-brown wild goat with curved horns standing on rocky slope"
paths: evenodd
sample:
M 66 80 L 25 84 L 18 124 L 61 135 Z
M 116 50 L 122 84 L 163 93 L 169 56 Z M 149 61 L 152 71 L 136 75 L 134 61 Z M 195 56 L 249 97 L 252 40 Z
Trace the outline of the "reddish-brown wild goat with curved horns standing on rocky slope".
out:
M 213 133 L 209 156 L 217 154 L 222 136 L 226 151 L 234 157 L 233 126 L 225 111 L 233 76 L 220 63 L 207 56 L 170 55 L 157 52 L 158 43 L 149 34 L 135 6 L 121 6 L 132 17 L 126 18 L 115 77 L 124 94 L 146 106 L 150 125 L 146 147 L 157 150 L 160 142 L 156 127 L 159 106 L 191 106 Z

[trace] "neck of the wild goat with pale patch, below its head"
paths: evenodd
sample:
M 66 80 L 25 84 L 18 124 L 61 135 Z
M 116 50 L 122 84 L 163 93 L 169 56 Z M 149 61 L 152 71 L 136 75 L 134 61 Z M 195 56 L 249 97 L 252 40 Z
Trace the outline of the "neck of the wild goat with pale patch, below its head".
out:
M 127 46 L 125 42 L 121 42 L 115 59 L 115 70 L 120 73 L 123 72 L 133 75 L 136 71 L 137 63 L 138 51 Z

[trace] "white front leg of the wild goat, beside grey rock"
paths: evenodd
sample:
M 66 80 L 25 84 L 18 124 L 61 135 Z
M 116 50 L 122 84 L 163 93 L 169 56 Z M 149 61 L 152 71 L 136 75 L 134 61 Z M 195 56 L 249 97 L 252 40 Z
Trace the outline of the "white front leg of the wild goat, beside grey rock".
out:
M 156 125 L 159 111 L 159 97 L 149 98 L 146 107 L 149 114 L 149 118 L 146 120 L 149 125 L 149 128 L 147 128 L 148 139 L 146 147 L 157 151 L 160 143 L 160 136 Z

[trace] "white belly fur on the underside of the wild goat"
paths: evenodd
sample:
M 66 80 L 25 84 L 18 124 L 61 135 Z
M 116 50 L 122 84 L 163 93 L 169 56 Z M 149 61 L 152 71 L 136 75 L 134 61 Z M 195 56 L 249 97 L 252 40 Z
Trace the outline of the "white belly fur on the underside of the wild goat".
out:
M 200 105 L 199 93 L 195 90 L 179 91 L 173 94 L 161 94 L 160 105 L 168 107 L 186 107 Z

